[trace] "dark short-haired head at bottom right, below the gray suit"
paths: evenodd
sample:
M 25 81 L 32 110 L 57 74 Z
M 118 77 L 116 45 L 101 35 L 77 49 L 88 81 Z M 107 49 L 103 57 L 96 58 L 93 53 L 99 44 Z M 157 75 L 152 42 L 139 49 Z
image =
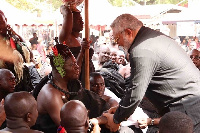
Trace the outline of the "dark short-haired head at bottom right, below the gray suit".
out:
M 166 113 L 159 122 L 159 133 L 193 133 L 192 119 L 179 111 Z

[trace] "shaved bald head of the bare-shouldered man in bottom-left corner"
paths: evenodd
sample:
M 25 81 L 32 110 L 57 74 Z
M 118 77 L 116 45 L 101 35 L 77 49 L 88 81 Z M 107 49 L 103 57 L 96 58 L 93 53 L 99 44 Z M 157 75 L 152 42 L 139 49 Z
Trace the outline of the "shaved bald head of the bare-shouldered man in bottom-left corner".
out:
M 28 92 L 14 92 L 6 96 L 4 108 L 7 119 L 24 118 L 28 113 L 36 111 L 37 118 L 37 103 L 34 97 Z

